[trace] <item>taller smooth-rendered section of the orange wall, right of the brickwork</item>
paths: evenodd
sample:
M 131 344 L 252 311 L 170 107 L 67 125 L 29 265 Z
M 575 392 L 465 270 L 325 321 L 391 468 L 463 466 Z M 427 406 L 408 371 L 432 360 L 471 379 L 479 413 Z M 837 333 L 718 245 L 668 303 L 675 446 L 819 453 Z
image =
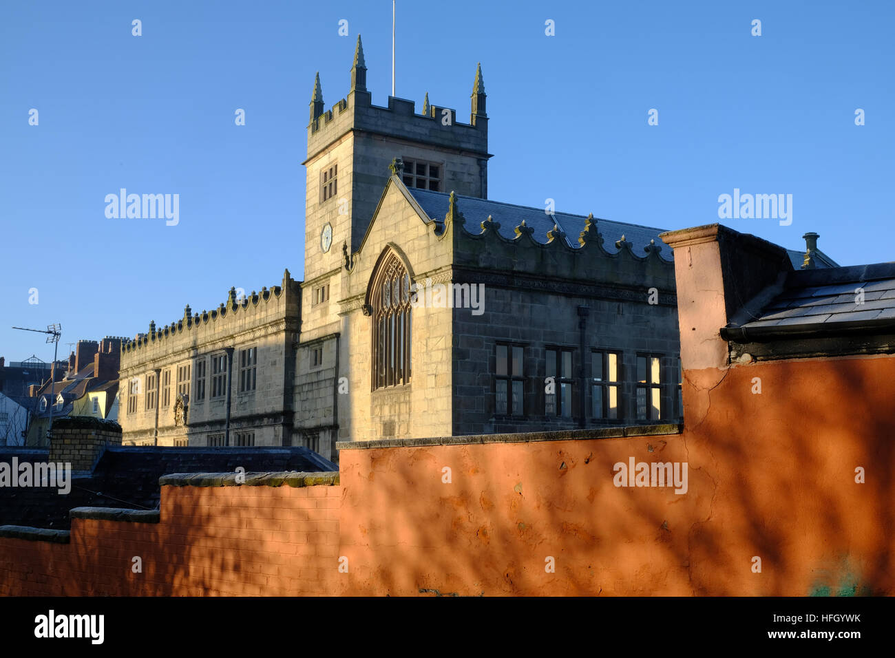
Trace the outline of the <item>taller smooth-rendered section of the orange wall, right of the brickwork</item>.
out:
M 895 594 L 895 360 L 685 379 L 679 436 L 344 450 L 349 591 Z M 616 488 L 628 457 L 686 460 L 689 491 Z

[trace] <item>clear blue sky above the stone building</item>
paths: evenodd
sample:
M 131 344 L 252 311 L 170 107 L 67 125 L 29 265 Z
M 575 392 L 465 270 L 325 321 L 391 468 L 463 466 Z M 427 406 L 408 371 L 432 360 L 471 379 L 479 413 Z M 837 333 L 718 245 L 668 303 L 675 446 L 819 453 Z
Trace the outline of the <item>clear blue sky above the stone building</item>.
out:
M 786 193 L 790 226 L 723 223 L 890 261 L 893 6 L 398 0 L 396 95 L 466 122 L 482 62 L 491 199 L 670 229 L 719 221 L 734 188 Z M 0 355 L 52 358 L 13 325 L 132 337 L 302 278 L 314 73 L 327 107 L 344 98 L 360 32 L 386 105 L 390 29 L 388 0 L 0 5 Z M 179 224 L 106 218 L 122 187 L 178 193 Z

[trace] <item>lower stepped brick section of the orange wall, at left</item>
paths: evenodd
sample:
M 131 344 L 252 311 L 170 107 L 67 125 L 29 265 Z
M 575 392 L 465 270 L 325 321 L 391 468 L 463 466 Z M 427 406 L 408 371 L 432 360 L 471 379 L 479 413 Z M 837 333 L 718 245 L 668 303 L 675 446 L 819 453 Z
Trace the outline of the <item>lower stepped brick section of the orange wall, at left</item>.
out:
M 0 594 L 334 593 L 340 493 L 166 486 L 158 524 L 76 518 L 70 544 L 0 538 Z

